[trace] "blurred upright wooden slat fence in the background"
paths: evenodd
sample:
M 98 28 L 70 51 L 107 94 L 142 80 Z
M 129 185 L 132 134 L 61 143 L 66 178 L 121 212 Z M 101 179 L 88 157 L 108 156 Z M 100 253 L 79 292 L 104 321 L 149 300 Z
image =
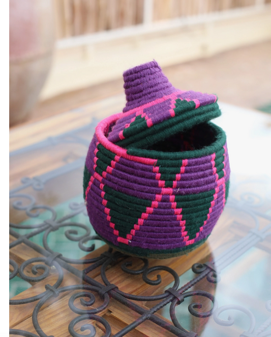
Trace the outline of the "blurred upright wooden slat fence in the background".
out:
M 271 0 L 53 0 L 57 39 L 266 3 Z

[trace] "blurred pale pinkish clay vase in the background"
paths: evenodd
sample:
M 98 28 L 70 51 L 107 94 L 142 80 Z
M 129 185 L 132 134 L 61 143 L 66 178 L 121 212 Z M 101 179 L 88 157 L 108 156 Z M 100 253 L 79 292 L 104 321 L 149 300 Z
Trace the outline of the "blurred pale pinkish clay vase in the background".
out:
M 51 0 L 10 0 L 10 126 L 32 113 L 54 46 Z

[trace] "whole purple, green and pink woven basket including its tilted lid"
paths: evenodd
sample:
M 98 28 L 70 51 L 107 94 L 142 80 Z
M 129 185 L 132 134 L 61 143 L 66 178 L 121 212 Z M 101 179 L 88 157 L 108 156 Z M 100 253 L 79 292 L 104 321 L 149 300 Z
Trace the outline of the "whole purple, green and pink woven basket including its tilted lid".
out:
M 124 72 L 123 112 L 89 145 L 84 198 L 109 246 L 167 258 L 205 242 L 228 196 L 226 135 L 210 122 L 217 96 L 174 88 L 156 61 Z

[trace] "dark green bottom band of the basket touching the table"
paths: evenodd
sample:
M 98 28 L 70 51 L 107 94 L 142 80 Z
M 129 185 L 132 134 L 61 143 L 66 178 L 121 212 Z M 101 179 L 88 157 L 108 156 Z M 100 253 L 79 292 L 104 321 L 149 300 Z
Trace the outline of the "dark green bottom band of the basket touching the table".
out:
M 204 238 L 203 240 L 198 241 L 196 244 L 191 246 L 186 246 L 183 248 L 175 248 L 175 249 L 163 249 L 163 250 L 151 250 L 151 249 L 144 249 L 139 247 L 131 247 L 127 246 L 123 243 L 119 243 L 119 246 L 113 245 L 111 242 L 105 240 L 103 237 L 101 237 L 98 233 L 97 235 L 111 248 L 114 248 L 115 250 L 120 251 L 121 253 L 140 257 L 140 258 L 170 258 L 170 257 L 176 257 L 180 255 L 185 255 L 191 252 L 192 250 L 195 250 L 199 246 L 201 246 L 208 237 Z

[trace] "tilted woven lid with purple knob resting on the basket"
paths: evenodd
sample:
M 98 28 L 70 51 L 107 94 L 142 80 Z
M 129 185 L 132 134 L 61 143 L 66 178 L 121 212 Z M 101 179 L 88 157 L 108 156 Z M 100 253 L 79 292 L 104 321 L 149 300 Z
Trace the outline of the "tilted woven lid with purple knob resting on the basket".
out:
M 148 148 L 219 117 L 217 96 L 174 88 L 156 61 L 124 72 L 126 106 L 108 140 L 124 148 Z

